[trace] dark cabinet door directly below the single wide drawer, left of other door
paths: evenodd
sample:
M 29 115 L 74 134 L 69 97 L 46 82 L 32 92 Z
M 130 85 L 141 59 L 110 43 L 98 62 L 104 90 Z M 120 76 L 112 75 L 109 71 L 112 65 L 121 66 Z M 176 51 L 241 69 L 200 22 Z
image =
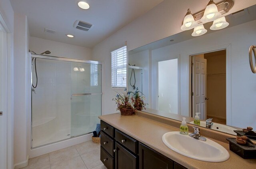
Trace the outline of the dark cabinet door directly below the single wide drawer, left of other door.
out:
M 138 157 L 116 142 L 116 169 L 138 169 Z

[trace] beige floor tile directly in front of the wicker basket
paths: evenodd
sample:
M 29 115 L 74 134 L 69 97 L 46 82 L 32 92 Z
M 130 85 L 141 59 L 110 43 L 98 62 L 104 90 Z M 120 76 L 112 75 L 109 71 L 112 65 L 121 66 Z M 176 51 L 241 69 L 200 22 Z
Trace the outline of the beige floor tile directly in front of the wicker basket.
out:
M 84 143 L 77 144 L 77 145 L 75 145 L 75 147 L 76 147 L 78 153 L 80 155 L 83 155 L 83 154 L 93 151 L 95 149 L 99 150 L 100 144 L 94 143 L 90 140 L 90 141 L 86 141 Z

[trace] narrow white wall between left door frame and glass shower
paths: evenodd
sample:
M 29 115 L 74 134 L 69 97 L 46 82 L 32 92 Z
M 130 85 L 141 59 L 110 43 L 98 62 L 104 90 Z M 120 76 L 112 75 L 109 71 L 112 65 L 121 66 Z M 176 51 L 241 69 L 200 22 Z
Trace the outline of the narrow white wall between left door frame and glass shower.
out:
M 14 14 L 14 164 L 26 161 L 29 106 L 27 17 Z

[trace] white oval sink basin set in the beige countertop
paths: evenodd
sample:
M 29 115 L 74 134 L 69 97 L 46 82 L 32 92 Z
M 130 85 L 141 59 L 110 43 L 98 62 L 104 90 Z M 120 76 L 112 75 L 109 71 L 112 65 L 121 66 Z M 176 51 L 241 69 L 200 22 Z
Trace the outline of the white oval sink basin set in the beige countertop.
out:
M 162 140 L 173 151 L 192 159 L 209 162 L 222 162 L 229 159 L 228 151 L 208 138 L 206 141 L 201 141 L 182 135 L 179 131 L 172 131 L 165 133 Z

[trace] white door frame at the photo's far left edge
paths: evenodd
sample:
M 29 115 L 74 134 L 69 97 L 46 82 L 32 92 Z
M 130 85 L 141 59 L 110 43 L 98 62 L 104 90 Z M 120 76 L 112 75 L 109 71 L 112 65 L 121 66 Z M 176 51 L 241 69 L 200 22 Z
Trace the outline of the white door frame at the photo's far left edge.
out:
M 0 11 L 0 28 L 4 35 L 4 168 L 13 169 L 13 33 L 11 33 Z

